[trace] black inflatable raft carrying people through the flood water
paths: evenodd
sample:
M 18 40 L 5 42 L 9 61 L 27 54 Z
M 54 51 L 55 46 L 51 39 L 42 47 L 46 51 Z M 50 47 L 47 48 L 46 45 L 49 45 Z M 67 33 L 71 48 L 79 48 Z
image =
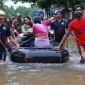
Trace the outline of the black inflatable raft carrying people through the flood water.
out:
M 10 59 L 18 63 L 63 63 L 69 60 L 69 53 L 65 49 L 54 51 L 50 48 L 26 47 L 12 50 Z

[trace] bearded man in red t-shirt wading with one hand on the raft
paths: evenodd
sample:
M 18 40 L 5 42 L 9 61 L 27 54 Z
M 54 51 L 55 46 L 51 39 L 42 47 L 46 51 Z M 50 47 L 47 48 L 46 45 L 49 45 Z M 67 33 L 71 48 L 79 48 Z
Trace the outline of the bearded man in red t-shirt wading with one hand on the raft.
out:
M 68 38 L 71 31 L 74 31 L 74 37 L 78 45 L 79 53 L 81 55 L 80 63 L 85 63 L 85 17 L 83 17 L 83 10 L 81 5 L 76 5 L 74 9 L 76 19 L 74 19 L 68 26 L 67 32 L 57 47 L 57 50 L 61 48 L 63 43 Z

